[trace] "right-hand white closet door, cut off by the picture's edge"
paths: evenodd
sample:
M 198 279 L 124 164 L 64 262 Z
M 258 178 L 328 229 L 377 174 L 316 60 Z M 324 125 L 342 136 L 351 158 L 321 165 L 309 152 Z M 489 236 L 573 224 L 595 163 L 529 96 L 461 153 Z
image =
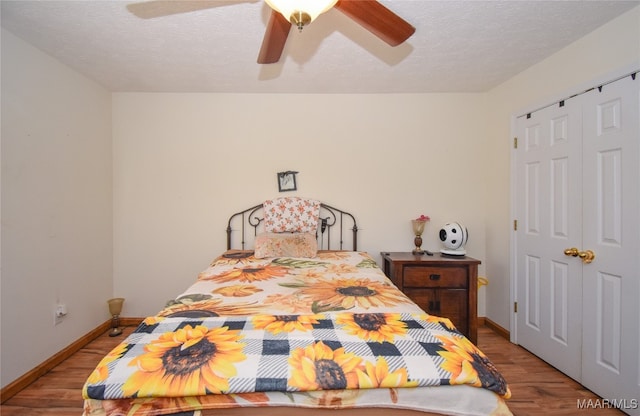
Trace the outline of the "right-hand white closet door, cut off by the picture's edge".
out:
M 585 96 L 582 384 L 640 402 L 640 79 Z M 638 409 L 630 409 L 637 412 Z

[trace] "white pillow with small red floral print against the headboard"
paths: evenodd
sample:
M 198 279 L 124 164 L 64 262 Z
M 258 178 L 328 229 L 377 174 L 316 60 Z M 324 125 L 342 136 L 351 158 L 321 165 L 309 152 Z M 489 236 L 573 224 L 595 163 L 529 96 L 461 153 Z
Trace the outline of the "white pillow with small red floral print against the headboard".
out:
M 319 201 L 283 197 L 267 200 L 262 206 L 268 233 L 315 233 L 318 228 Z

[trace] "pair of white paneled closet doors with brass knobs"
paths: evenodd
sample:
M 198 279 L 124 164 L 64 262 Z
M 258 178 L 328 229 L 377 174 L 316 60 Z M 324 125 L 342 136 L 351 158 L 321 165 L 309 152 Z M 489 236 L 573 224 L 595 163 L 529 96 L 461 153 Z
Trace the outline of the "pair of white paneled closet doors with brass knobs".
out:
M 627 76 L 521 117 L 515 156 L 515 339 L 629 414 L 640 403 L 639 103 Z

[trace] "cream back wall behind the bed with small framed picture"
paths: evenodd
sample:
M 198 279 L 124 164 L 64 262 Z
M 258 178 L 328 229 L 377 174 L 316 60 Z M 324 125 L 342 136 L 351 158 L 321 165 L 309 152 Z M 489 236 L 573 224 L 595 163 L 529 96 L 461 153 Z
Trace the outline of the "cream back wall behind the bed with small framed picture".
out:
M 114 94 L 115 294 L 128 316 L 157 312 L 289 169 L 297 195 L 356 216 L 378 260 L 412 249 L 427 214 L 425 248 L 459 220 L 484 261 L 486 116 L 483 94 Z

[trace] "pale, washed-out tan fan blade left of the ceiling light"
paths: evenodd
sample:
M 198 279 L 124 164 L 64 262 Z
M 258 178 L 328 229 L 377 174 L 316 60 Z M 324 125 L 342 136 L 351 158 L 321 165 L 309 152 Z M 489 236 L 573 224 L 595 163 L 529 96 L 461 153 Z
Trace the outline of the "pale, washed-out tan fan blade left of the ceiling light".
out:
M 141 19 L 170 16 L 172 14 L 212 9 L 238 3 L 255 2 L 257 0 L 151 0 L 127 5 L 127 10 Z

